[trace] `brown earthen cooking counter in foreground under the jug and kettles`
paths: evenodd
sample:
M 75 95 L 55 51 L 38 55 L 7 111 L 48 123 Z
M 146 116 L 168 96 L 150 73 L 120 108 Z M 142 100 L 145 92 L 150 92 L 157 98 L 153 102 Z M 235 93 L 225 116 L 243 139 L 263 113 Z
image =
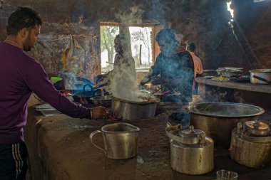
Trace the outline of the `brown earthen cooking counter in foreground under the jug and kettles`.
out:
M 30 103 L 33 105 L 33 102 Z M 180 107 L 178 107 L 180 108 Z M 177 108 L 177 109 L 178 109 Z M 166 119 L 176 107 L 158 107 L 159 114 L 148 120 L 129 121 L 140 128 L 138 156 L 127 160 L 111 160 L 94 147 L 89 134 L 111 120 L 73 119 L 66 115 L 41 116 L 29 107 L 25 128 L 31 174 L 34 180 L 89 179 L 215 179 L 215 171 L 236 171 L 240 179 L 270 179 L 271 168 L 250 169 L 230 160 L 227 150 L 215 152 L 215 169 L 201 176 L 189 176 L 170 167 L 170 144 L 165 136 Z M 94 142 L 103 147 L 101 134 Z

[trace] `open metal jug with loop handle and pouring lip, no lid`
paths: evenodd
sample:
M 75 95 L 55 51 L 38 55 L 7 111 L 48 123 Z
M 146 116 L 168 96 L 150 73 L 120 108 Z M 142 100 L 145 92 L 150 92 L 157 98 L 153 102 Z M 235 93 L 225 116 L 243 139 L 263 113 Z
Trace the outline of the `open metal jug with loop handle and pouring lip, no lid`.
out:
M 103 150 L 110 159 L 130 159 L 138 154 L 138 132 L 140 129 L 128 123 L 114 123 L 91 133 L 91 143 Z M 104 149 L 93 142 L 93 136 L 103 134 Z

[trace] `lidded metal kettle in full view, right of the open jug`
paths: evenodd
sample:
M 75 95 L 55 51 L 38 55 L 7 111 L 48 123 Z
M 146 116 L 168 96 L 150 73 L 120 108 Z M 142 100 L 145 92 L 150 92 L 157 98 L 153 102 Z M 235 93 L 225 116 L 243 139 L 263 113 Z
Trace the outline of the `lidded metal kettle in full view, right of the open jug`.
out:
M 199 129 L 183 129 L 180 132 L 167 127 L 170 137 L 170 162 L 175 171 L 183 174 L 205 174 L 214 167 L 214 142 Z M 176 126 L 180 129 L 179 126 Z M 178 134 L 175 134 L 175 133 Z

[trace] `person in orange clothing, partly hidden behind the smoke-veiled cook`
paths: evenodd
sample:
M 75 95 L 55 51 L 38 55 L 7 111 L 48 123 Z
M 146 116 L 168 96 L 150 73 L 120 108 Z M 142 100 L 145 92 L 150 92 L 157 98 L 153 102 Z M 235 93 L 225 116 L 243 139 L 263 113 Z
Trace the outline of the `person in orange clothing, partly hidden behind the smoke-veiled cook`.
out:
M 201 63 L 200 58 L 195 55 L 195 43 L 188 43 L 186 46 L 187 51 L 192 55 L 194 63 L 194 94 L 198 94 L 198 83 L 195 82 L 195 78 L 200 77 L 203 74 L 203 64 Z

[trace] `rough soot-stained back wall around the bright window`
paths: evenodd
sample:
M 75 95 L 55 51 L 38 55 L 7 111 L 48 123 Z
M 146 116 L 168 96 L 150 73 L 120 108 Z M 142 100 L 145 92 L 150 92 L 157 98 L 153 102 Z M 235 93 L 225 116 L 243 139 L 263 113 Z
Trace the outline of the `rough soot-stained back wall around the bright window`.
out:
M 244 0 L 235 0 L 244 1 Z M 250 1 L 250 0 L 249 0 Z M 123 14 L 129 14 L 130 7 L 136 7 L 138 14 L 135 19 L 155 19 L 161 23 L 170 22 L 172 28 L 183 34 L 183 43 L 194 41 L 198 46 L 199 57 L 203 60 L 205 69 L 220 66 L 245 67 L 247 57 L 240 48 L 240 44 L 232 33 L 228 21 L 230 13 L 227 11 L 226 0 L 39 0 L 39 1 L 5 1 L 0 10 L 0 38 L 5 38 L 6 20 L 16 6 L 30 6 L 39 11 L 45 23 L 41 28 L 44 40 L 38 43 L 31 55 L 39 60 L 47 73 L 59 73 L 61 53 L 68 42 L 68 36 L 75 36 L 86 50 L 86 78 L 93 78 L 94 74 L 101 73 L 100 59 L 100 21 L 122 21 Z M 242 10 L 243 11 L 243 10 Z M 131 14 L 131 12 L 130 12 Z M 129 17 L 129 16 L 124 16 Z M 247 21 L 243 19 L 242 21 Z M 262 22 L 270 22 L 266 19 Z M 260 33 L 262 29 L 255 29 L 250 41 L 262 46 L 261 40 L 266 41 L 269 31 Z M 246 33 L 248 34 L 248 33 Z M 255 36 L 261 34 L 261 36 Z M 59 41 L 50 41 L 60 39 Z M 48 41 L 46 41 L 48 40 Z M 269 41 L 270 43 L 270 41 Z M 252 45 L 254 45 L 252 43 Z M 268 55 L 261 52 L 264 48 L 257 48 L 257 56 L 261 56 L 259 63 L 267 67 Z

